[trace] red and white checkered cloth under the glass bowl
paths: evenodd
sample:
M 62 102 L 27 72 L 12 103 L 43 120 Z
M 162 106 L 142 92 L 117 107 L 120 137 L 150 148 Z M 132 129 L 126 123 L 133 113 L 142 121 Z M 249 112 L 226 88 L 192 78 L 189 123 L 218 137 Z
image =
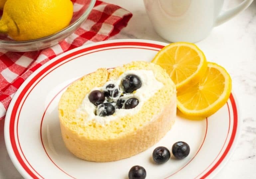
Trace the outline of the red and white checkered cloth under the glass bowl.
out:
M 75 16 L 84 5 L 82 0 L 72 2 Z M 0 50 L 0 120 L 5 118 L 15 92 L 36 69 L 67 50 L 108 39 L 126 27 L 131 17 L 129 11 L 119 6 L 96 1 L 88 19 L 59 44 L 33 52 Z

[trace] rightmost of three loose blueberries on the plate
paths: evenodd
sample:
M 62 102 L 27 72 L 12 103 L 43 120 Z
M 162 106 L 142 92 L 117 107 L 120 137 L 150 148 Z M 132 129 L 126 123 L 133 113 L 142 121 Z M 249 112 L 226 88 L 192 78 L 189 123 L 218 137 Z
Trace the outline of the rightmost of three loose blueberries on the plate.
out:
M 178 159 L 183 159 L 189 155 L 190 147 L 186 142 L 176 142 L 172 147 L 173 155 Z

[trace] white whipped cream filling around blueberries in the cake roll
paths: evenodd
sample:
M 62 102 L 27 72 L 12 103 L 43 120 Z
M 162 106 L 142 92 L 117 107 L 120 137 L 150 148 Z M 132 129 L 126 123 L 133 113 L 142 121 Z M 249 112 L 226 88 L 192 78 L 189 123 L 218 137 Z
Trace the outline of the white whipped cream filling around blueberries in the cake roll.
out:
M 93 90 L 100 90 L 103 91 L 104 87 L 107 86 L 108 84 L 116 84 L 119 86 L 121 93 L 123 92 L 123 87 L 122 87 L 122 80 L 126 75 L 134 74 L 137 75 L 141 82 L 141 88 L 137 89 L 133 93 L 124 93 L 124 96 L 122 98 L 128 100 L 129 98 L 137 98 L 139 100 L 139 104 L 132 108 L 132 109 L 115 109 L 115 113 L 113 115 L 109 116 L 98 116 L 96 115 L 96 106 L 90 102 L 88 96 L 89 93 Z M 151 70 L 129 70 L 124 72 L 117 80 L 111 80 L 106 82 L 103 87 L 95 87 L 93 88 L 86 96 L 84 97 L 81 105 L 79 108 L 76 110 L 77 115 L 80 115 L 81 113 L 86 113 L 87 118 L 85 120 L 85 123 L 88 121 L 95 121 L 102 126 L 105 126 L 112 120 L 119 119 L 123 116 L 126 115 L 134 115 L 136 114 L 142 107 L 145 101 L 147 101 L 151 96 L 153 96 L 158 90 L 160 90 L 163 87 L 163 83 L 159 82 L 155 76 L 153 71 Z M 119 97 L 119 96 L 118 96 Z M 106 101 L 105 101 L 106 102 Z

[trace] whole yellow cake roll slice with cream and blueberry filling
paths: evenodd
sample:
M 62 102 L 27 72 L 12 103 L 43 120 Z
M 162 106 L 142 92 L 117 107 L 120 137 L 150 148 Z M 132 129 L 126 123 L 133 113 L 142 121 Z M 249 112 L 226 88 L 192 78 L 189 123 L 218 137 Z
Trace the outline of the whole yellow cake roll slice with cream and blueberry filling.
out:
M 115 161 L 157 143 L 176 118 L 176 88 L 160 66 L 135 61 L 73 82 L 59 102 L 67 149 L 89 161 Z

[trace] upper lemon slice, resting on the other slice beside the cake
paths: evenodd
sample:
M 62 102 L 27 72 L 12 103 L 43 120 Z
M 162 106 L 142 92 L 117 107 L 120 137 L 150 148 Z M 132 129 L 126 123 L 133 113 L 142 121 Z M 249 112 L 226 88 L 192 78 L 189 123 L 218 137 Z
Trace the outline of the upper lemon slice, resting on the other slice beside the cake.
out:
M 195 85 L 207 69 L 203 52 L 195 44 L 187 42 L 167 45 L 152 62 L 166 69 L 178 91 Z

